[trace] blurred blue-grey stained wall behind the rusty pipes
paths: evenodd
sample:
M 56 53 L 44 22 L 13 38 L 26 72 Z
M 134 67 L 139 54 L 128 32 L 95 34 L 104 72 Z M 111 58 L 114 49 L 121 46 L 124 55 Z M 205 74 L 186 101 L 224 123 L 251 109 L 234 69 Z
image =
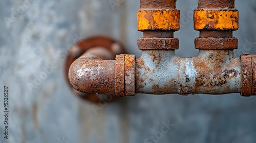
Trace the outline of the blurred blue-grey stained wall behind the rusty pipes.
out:
M 0 142 L 144 142 L 160 131 L 162 122 L 174 127 L 158 142 L 256 142 L 256 97 L 137 94 L 109 103 L 97 114 L 91 103 L 76 98 L 64 78 L 63 60 L 77 37 L 111 36 L 123 42 L 129 54 L 141 55 L 139 1 L 124 0 L 114 9 L 109 1 L 0 1 Z M 195 0 L 177 2 L 179 56 L 198 54 L 194 39 L 199 32 L 191 17 L 196 5 Z M 240 28 L 233 32 L 239 39 L 236 54 L 255 54 L 256 1 L 237 0 L 236 8 L 240 12 Z M 35 85 L 52 62 L 56 67 Z M 3 138 L 4 85 L 9 87 L 8 140 Z

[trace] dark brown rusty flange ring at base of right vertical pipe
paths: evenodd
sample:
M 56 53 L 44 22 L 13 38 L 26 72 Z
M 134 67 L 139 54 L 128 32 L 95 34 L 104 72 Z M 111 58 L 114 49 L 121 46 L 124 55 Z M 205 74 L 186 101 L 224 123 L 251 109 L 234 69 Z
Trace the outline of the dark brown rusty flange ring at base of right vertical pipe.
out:
M 234 50 L 238 49 L 237 38 L 196 38 L 196 49 Z

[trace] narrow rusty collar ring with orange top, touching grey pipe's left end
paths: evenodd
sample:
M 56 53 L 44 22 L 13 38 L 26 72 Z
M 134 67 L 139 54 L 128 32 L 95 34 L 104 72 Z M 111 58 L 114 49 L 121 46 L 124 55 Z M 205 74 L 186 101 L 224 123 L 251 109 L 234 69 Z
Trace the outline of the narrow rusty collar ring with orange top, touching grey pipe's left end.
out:
M 124 93 L 125 96 L 135 96 L 135 56 L 124 56 Z

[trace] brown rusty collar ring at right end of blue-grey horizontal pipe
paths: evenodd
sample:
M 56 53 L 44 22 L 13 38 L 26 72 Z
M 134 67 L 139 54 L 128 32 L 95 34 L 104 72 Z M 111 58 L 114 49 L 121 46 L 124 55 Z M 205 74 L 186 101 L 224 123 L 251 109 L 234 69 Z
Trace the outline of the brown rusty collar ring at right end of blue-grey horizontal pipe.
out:
M 252 61 L 250 54 L 240 56 L 242 65 L 242 90 L 241 96 L 249 97 L 252 94 Z

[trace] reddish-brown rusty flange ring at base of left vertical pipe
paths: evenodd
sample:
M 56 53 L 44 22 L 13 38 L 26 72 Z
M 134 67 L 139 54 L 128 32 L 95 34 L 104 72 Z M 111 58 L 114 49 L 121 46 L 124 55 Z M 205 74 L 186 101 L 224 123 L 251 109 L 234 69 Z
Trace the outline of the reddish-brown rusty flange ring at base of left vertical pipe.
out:
M 140 50 L 175 50 L 179 49 L 178 38 L 139 38 Z

